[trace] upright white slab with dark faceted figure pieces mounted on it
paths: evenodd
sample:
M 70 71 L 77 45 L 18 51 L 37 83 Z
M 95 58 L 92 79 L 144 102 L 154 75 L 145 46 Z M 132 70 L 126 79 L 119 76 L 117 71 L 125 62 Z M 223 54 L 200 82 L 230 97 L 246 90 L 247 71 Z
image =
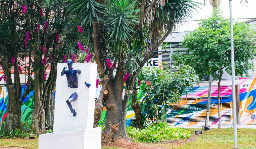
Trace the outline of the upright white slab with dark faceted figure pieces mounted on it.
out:
M 65 66 L 67 63 L 58 63 L 57 66 L 53 132 L 93 128 L 97 64 L 73 63 L 73 69 L 81 70 L 81 74 L 77 74 L 78 88 L 69 88 L 66 74 L 61 76 L 61 71 Z M 84 82 L 90 83 L 90 88 Z M 77 93 L 78 98 L 71 104 L 77 113 L 76 117 L 73 116 L 66 103 L 74 92 Z

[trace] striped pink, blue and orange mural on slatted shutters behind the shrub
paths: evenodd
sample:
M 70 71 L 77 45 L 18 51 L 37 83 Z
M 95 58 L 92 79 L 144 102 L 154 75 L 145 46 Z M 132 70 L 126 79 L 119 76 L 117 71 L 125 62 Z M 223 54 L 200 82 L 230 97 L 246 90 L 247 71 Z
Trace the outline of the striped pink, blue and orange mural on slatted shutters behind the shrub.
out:
M 221 119 L 222 124 L 232 123 L 231 86 L 221 86 Z M 167 108 L 167 123 L 174 126 L 204 125 L 208 87 L 196 87 L 183 100 Z M 218 124 L 218 86 L 211 88 L 209 125 Z

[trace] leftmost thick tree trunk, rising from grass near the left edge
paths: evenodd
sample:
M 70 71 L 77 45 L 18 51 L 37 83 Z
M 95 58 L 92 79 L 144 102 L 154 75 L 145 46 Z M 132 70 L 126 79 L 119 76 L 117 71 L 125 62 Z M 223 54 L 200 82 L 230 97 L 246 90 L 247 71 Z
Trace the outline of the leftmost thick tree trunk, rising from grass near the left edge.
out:
M 9 132 L 15 128 L 22 130 L 21 123 L 21 107 L 19 101 L 14 95 L 13 85 L 7 85 L 8 103 L 7 103 L 7 117 L 5 123 L 5 131 Z

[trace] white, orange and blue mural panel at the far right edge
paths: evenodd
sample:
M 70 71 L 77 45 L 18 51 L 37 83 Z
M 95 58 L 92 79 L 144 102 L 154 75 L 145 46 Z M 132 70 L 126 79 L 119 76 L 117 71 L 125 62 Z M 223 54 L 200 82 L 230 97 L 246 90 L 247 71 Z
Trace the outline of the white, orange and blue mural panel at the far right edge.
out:
M 256 78 L 240 78 L 240 123 L 256 124 Z

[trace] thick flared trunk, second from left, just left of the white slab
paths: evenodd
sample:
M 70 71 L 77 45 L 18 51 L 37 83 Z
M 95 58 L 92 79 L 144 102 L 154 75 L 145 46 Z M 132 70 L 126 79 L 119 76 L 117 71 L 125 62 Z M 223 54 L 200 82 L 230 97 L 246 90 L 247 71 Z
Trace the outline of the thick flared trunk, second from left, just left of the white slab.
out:
M 40 60 L 35 57 L 35 65 L 40 63 Z M 39 74 L 39 69 L 35 70 L 35 98 L 34 98 L 34 110 L 33 110 L 33 114 L 32 114 L 32 127 L 34 128 L 34 130 L 37 132 L 37 134 L 41 134 L 41 133 L 45 133 L 45 111 L 44 111 L 44 107 L 41 101 L 41 97 L 42 97 L 42 90 L 41 90 L 41 86 L 42 83 L 40 82 L 40 74 Z

